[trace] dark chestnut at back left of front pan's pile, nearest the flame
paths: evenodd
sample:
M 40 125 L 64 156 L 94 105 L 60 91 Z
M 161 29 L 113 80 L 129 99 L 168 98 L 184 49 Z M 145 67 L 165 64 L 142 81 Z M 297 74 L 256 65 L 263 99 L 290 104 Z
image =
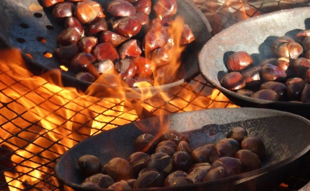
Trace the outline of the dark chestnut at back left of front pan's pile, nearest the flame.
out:
M 135 151 L 142 151 L 148 154 L 154 153 L 158 140 L 153 134 L 144 133 L 135 139 Z

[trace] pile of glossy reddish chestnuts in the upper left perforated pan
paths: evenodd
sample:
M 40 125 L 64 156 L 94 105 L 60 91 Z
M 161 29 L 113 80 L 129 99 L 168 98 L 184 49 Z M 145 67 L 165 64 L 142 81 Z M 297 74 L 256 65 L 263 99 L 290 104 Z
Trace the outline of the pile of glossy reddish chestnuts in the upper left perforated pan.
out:
M 141 81 L 170 83 L 176 80 L 170 74 L 176 65 L 171 63 L 181 58 L 177 50 L 195 40 L 176 15 L 176 0 L 42 2 L 64 26 L 53 57 L 83 81 L 129 87 Z

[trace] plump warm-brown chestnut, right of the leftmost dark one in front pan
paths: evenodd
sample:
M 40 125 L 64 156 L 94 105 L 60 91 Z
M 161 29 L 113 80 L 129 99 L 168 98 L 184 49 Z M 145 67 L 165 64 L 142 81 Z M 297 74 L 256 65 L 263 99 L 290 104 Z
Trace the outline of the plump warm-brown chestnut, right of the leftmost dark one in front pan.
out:
M 106 164 L 106 174 L 115 182 L 135 178 L 135 171 L 131 164 L 119 157 L 112 158 Z

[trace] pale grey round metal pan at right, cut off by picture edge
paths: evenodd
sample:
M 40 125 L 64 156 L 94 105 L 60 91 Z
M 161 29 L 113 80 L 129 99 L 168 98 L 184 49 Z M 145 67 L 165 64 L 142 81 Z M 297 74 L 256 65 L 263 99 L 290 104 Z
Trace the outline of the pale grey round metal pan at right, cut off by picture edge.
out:
M 292 112 L 310 119 L 310 103 L 267 101 L 243 96 L 221 86 L 227 55 L 246 51 L 254 64 L 272 58 L 271 46 L 278 37 L 295 35 L 310 28 L 310 7 L 280 10 L 251 17 L 224 29 L 210 39 L 199 53 L 202 76 L 231 101 L 241 107 L 259 107 Z

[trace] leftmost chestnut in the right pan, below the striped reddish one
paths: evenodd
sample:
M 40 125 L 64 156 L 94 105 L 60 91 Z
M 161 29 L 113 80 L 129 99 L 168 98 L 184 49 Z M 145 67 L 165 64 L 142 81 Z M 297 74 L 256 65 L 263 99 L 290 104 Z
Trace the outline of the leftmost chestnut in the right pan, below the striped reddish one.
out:
M 224 75 L 221 84 L 226 89 L 238 90 L 245 87 L 245 80 L 240 72 L 232 71 Z

